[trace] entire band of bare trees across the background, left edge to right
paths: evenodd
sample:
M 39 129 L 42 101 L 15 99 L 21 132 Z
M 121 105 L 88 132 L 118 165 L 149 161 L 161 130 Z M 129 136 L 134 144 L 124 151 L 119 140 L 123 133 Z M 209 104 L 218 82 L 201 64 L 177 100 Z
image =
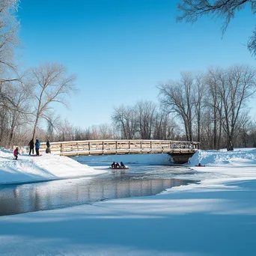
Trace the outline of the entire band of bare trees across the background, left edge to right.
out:
M 68 106 L 76 76 L 62 64 L 46 62 L 27 70 L 17 64 L 18 2 L 0 1 L 0 147 L 25 145 L 36 135 L 50 141 L 141 138 L 199 141 L 204 149 L 256 147 L 248 106 L 255 94 L 255 69 L 246 65 L 182 72 L 180 79 L 157 85 L 159 103 L 116 106 L 112 124 L 81 128 L 61 120 L 55 104 Z M 183 19 L 191 3 L 180 5 Z

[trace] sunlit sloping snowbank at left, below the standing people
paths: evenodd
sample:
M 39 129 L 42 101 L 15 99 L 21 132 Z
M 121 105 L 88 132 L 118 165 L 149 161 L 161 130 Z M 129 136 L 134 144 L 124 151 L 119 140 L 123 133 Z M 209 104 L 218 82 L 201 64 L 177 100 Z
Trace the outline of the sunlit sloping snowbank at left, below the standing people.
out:
M 15 160 L 13 152 L 0 148 L 0 184 L 86 177 L 101 173 L 103 171 L 94 170 L 66 156 L 20 154 Z

